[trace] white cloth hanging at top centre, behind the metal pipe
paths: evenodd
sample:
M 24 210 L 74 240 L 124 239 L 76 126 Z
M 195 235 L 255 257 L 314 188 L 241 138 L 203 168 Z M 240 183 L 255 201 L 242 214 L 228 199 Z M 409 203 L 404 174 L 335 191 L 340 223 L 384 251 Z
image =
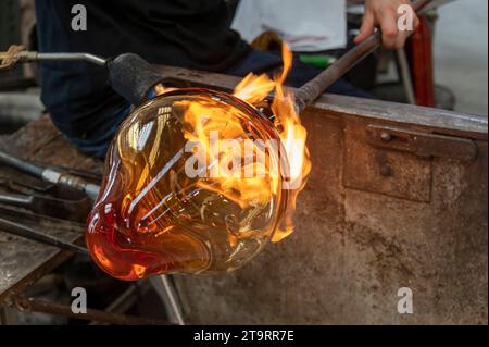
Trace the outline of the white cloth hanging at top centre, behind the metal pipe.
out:
M 347 45 L 346 0 L 241 0 L 231 27 L 252 41 L 273 30 L 293 51 L 321 51 Z

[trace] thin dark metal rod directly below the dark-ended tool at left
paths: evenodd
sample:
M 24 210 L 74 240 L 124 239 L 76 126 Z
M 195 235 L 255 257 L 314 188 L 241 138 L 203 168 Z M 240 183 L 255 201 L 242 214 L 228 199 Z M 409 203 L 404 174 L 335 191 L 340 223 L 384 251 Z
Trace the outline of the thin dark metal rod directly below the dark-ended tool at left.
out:
M 72 250 L 78 253 L 88 255 L 88 250 L 82 246 L 66 243 L 51 235 L 47 235 L 42 232 L 39 232 L 30 226 L 22 225 L 20 223 L 0 218 L 0 227 L 2 232 L 8 234 L 12 234 L 15 236 L 21 236 L 24 238 L 28 238 L 30 240 L 35 240 L 45 245 L 54 246 L 61 249 Z

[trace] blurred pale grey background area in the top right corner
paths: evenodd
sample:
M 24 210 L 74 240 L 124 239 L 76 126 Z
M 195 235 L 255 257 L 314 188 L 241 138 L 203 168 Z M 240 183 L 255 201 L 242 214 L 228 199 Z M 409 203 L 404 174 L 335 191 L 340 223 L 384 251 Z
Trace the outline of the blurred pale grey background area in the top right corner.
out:
M 455 110 L 486 115 L 487 1 L 459 0 L 438 9 L 435 79 L 456 98 Z

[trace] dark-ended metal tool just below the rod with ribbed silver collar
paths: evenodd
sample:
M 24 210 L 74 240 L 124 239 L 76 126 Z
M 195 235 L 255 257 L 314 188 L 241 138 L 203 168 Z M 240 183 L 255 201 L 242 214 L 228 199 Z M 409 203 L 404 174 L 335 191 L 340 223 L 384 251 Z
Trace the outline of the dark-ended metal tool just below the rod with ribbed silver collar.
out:
M 68 221 L 84 222 L 90 212 L 88 199 L 71 201 L 39 195 L 0 193 L 0 203 L 26 208 L 34 213 Z

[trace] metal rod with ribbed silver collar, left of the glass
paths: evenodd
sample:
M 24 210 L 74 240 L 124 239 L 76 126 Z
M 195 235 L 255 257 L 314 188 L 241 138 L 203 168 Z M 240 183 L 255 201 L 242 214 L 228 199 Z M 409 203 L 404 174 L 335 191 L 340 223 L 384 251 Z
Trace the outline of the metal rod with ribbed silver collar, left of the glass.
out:
M 87 182 L 79 176 L 54 168 L 35 164 L 13 157 L 4 151 L 0 151 L 0 163 L 42 178 L 43 181 L 84 191 L 92 200 L 95 200 L 99 194 L 98 185 Z

